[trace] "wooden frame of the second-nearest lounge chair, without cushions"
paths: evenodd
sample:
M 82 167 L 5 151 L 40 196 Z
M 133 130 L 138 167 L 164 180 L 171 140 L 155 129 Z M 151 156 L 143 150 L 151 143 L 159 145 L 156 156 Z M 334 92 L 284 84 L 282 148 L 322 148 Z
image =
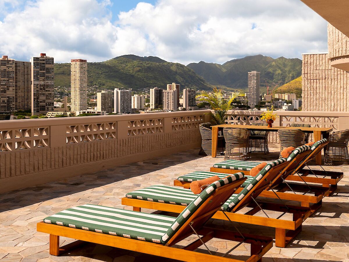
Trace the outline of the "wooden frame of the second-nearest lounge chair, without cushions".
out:
M 266 202 L 257 202 L 256 197 L 269 186 L 270 182 L 279 175 L 279 173 L 287 166 L 289 162 L 281 163 L 273 168 L 270 168 L 268 173 L 258 181 L 255 185 L 255 189 L 248 192 L 245 197 L 240 201 L 231 212 L 217 211 L 212 218 L 230 220 L 240 223 L 268 226 L 275 228 L 275 246 L 286 247 L 296 235 L 302 231 L 302 223 L 311 214 L 310 208 L 274 204 Z M 134 211 L 141 211 L 141 208 L 161 210 L 167 212 L 180 213 L 185 209 L 185 206 L 176 204 L 166 204 L 159 202 L 146 201 L 135 198 L 121 198 L 122 205 L 133 206 Z M 252 208 L 246 213 L 236 213 L 244 207 Z M 265 210 L 278 211 L 293 214 L 293 221 L 279 218 L 270 218 L 266 214 Z M 254 216 L 259 211 L 263 211 L 267 217 Z

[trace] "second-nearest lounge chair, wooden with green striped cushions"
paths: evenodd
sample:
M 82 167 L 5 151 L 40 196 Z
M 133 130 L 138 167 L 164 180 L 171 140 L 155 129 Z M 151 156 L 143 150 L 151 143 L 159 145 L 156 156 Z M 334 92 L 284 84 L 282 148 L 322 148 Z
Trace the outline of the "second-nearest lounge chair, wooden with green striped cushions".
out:
M 303 221 L 310 216 L 310 208 L 257 202 L 255 198 L 288 164 L 286 159 L 280 159 L 266 165 L 239 194 L 233 194 L 228 201 L 222 204 L 221 211 L 216 212 L 213 218 L 274 227 L 275 245 L 277 247 L 287 246 L 302 230 Z M 190 189 L 183 187 L 154 185 L 126 194 L 126 197 L 121 199 L 121 203 L 133 206 L 135 211 L 147 208 L 180 213 L 196 196 Z M 238 211 L 244 212 L 242 209 L 245 206 L 252 209 L 245 211 L 245 213 L 237 213 Z M 261 210 L 266 214 L 266 217 L 254 216 Z M 281 219 L 282 216 L 270 218 L 266 213 L 268 210 L 291 213 L 293 221 Z

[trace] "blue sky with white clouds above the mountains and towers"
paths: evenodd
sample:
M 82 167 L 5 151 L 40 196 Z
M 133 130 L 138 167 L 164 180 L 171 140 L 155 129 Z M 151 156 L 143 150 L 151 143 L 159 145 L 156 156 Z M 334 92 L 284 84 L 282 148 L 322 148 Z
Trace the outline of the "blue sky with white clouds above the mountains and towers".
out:
M 327 22 L 299 0 L 0 0 L 0 53 L 56 63 L 124 54 L 225 63 L 327 52 Z

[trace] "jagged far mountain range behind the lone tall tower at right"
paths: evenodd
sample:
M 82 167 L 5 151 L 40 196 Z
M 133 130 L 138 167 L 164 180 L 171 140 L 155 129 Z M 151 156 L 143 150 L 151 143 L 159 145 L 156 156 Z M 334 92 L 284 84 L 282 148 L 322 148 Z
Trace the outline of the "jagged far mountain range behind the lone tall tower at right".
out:
M 302 60 L 298 58 L 279 57 L 274 59 L 258 54 L 227 61 L 223 65 L 191 63 L 197 74 L 213 85 L 224 85 L 232 88 L 247 89 L 247 72 L 261 72 L 261 92 L 265 91 L 267 81 L 271 88 L 283 85 L 301 75 Z

